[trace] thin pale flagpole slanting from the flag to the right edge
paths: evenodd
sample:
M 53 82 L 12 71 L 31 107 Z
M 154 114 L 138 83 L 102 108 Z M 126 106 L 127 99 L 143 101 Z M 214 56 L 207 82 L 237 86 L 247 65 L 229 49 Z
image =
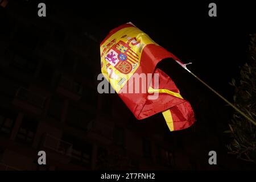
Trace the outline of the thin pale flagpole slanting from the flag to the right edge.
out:
M 234 108 L 234 110 L 236 110 L 238 113 L 240 113 L 243 117 L 245 117 L 246 119 L 248 119 L 251 123 L 253 123 L 253 125 L 256 126 L 256 122 L 251 119 L 250 117 L 248 117 L 245 113 L 243 113 L 243 111 L 241 111 L 240 109 L 238 109 L 236 106 L 234 106 L 231 102 L 229 102 L 228 100 L 226 100 L 226 98 L 224 98 L 223 96 L 221 96 L 221 94 L 219 94 L 216 90 L 214 90 L 213 88 L 211 88 L 207 83 L 205 83 L 203 80 L 201 80 L 199 77 L 197 77 L 194 73 L 192 73 L 191 71 L 189 71 L 189 69 L 186 67 L 187 64 L 182 64 L 180 63 L 180 61 L 175 60 L 177 63 L 179 63 L 179 65 L 181 65 L 181 67 L 183 67 L 185 70 L 187 70 L 189 73 L 191 73 L 191 75 L 193 75 L 195 78 L 197 78 L 197 80 L 199 80 L 202 84 L 204 84 L 205 86 L 207 86 L 207 88 L 209 88 L 210 90 L 212 90 L 212 92 L 214 92 L 218 97 L 220 97 L 222 100 L 224 100 L 228 105 L 232 106 Z M 188 63 L 191 64 L 191 63 Z

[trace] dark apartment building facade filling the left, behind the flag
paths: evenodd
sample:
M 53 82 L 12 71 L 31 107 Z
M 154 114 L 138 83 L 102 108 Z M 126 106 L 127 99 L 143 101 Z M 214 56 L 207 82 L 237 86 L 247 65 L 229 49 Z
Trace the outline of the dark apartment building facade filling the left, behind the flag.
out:
M 143 132 L 117 96 L 97 93 L 99 42 L 56 11 L 39 19 L 26 1 L 1 9 L 0 169 L 174 168 L 161 135 Z

